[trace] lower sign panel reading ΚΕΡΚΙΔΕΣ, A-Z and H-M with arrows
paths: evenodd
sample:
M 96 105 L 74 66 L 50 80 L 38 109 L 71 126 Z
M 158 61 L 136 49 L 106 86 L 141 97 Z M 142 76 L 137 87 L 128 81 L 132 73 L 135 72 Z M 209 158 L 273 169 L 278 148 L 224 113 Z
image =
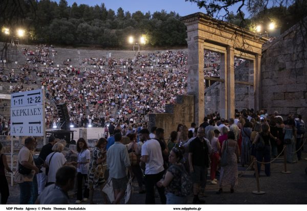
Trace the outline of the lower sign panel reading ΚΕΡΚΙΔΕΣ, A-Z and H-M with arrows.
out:
M 43 136 L 44 112 L 43 105 L 11 108 L 11 135 Z

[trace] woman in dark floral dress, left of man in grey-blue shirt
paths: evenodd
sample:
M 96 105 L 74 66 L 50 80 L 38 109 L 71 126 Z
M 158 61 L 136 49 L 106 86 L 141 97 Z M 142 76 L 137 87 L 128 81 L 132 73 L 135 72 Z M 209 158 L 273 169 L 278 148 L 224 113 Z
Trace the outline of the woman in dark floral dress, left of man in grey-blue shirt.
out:
M 101 190 L 105 183 L 103 163 L 106 161 L 106 143 L 105 138 L 99 138 L 96 143 L 96 146 L 93 150 L 93 154 L 90 160 L 90 169 L 89 174 L 87 175 L 87 187 L 90 189 L 90 204 L 93 204 L 93 194 L 94 190 L 97 187 L 100 187 Z M 107 202 L 105 194 L 102 192 L 104 203 Z

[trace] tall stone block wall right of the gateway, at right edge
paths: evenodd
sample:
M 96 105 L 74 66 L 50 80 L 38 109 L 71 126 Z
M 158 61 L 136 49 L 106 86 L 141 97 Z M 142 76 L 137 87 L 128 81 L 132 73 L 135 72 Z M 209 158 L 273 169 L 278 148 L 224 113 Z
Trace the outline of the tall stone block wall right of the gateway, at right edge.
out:
M 307 22 L 307 18 L 305 18 Z M 307 33 L 300 24 L 262 51 L 262 108 L 307 120 Z

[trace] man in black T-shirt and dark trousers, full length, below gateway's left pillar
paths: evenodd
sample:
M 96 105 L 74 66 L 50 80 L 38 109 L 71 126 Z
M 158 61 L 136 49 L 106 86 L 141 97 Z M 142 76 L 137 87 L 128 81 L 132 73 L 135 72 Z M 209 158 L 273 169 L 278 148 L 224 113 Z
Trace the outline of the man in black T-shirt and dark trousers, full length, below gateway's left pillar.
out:
M 205 137 L 205 129 L 200 127 L 196 138 L 189 145 L 189 166 L 193 180 L 193 204 L 203 204 L 204 200 L 199 199 L 200 187 L 205 186 L 207 171 L 209 167 L 209 148 Z

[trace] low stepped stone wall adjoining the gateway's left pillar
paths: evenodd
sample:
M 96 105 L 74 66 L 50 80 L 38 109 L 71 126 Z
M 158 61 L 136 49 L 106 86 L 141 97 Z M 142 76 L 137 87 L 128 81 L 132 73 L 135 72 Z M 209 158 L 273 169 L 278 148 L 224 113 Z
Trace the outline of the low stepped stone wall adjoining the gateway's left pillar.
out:
M 177 129 L 178 124 L 190 128 L 194 122 L 194 96 L 178 96 L 176 104 L 166 105 L 165 113 L 150 113 L 148 130 L 153 126 L 164 129 L 164 137 L 169 138 L 171 131 Z

